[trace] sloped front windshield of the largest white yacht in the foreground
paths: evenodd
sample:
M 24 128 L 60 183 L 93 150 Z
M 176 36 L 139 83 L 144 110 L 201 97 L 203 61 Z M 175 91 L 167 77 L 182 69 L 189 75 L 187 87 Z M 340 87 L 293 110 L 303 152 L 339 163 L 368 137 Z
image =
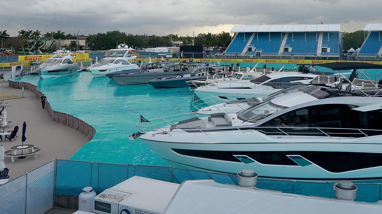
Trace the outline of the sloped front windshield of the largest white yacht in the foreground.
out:
M 268 117 L 269 115 L 281 111 L 285 108 L 285 106 L 276 105 L 271 101 L 265 101 L 241 111 L 238 113 L 238 118 L 246 122 L 256 123 L 262 118 Z

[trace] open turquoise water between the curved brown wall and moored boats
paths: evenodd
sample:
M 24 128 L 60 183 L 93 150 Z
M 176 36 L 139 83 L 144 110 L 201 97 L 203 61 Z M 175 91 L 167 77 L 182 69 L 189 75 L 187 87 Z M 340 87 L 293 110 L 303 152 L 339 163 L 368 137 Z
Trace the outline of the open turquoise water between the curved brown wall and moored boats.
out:
M 168 166 L 142 141 L 128 139 L 139 114 L 147 119 L 194 110 L 188 88 L 155 89 L 151 85 L 118 85 L 108 77 L 83 71 L 57 78 L 38 75 L 13 78 L 37 86 L 52 109 L 92 125 L 97 133 L 70 160 Z

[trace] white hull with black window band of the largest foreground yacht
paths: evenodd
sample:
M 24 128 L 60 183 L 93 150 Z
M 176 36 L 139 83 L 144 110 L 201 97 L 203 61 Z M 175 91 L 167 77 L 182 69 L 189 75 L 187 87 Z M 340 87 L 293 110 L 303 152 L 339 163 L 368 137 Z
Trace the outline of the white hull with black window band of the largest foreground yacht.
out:
M 169 139 L 168 134 L 159 132 L 149 132 L 140 139 L 174 167 L 228 174 L 253 169 L 263 178 L 315 182 L 382 178 L 382 163 L 380 166 L 365 168 L 361 167 L 362 164 L 358 164 L 359 168 L 351 165 L 357 162 L 357 157 L 382 157 L 382 145 L 370 139 L 357 143 L 354 139 L 338 139 L 333 142 L 333 139 L 325 138 L 310 141 L 306 141 L 307 138 L 293 139 L 294 142 L 290 142 L 290 138 L 273 139 L 257 131 L 231 131 L 230 134 L 224 134 L 224 142 L 217 142 L 216 134 L 222 139 L 222 133 L 206 135 L 195 132 L 186 136 L 185 132 L 178 131 L 183 135 L 177 136 L 172 132 L 172 142 L 165 142 Z M 185 139 L 189 139 L 188 142 Z M 256 139 L 256 143 L 241 139 Z M 351 147 L 344 147 L 345 144 Z M 355 160 L 351 161 L 352 158 Z M 342 166 L 343 170 L 339 170 Z

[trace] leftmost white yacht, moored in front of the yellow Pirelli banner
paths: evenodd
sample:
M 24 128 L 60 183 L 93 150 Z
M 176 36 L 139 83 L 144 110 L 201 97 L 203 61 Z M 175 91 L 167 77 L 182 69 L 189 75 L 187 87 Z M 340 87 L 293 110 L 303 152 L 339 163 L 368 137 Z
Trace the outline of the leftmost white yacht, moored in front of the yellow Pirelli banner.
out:
M 52 78 L 79 72 L 79 65 L 72 61 L 74 57 L 70 54 L 55 54 L 39 65 L 37 73 L 41 78 Z

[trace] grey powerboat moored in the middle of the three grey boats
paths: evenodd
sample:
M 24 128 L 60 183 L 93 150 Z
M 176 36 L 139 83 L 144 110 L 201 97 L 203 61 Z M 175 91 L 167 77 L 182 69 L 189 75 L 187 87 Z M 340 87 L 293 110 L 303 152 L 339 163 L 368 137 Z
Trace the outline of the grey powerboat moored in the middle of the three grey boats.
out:
M 155 78 L 188 73 L 189 69 L 200 65 L 200 63 L 168 64 L 161 69 L 138 70 L 137 72 L 114 75 L 113 80 L 119 85 L 148 84 L 150 80 Z

